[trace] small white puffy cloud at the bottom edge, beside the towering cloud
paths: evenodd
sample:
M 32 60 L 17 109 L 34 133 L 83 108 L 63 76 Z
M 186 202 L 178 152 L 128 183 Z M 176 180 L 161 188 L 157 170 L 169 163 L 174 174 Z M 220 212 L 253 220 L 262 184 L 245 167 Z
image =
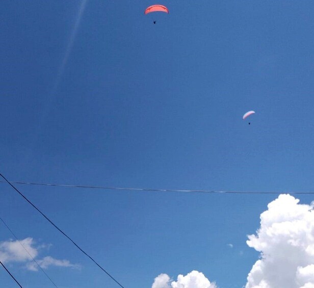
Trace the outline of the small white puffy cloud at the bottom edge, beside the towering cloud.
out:
M 167 274 L 160 274 L 155 278 L 151 288 L 217 288 L 217 286 L 203 273 L 192 271 L 186 276 L 178 275 L 177 281 L 171 281 Z

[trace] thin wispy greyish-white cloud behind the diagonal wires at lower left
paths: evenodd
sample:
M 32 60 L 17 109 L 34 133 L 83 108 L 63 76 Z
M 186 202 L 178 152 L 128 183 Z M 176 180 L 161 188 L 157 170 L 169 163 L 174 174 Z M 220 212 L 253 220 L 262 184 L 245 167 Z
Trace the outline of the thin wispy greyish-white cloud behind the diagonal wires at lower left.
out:
M 80 268 L 79 265 L 71 264 L 68 260 L 59 260 L 51 256 L 45 256 L 42 259 L 37 259 L 39 250 L 45 247 L 50 247 L 50 245 L 40 245 L 35 247 L 35 241 L 33 238 L 25 238 L 19 241 L 0 242 L 0 260 L 3 263 L 24 263 L 25 267 L 31 271 L 38 270 L 38 266 L 34 263 L 33 258 L 36 259 L 36 262 L 43 269 L 46 269 L 49 266 Z

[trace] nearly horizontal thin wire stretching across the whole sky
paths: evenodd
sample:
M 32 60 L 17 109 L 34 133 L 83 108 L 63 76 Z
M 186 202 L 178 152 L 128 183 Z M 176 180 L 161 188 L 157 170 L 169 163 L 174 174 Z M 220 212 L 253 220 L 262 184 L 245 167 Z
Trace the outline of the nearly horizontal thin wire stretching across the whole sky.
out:
M 1 174 L 0 174 L 1 175 Z M 0 180 L 0 182 L 6 182 Z M 34 185 L 34 186 L 54 186 L 68 188 L 88 188 L 101 190 L 124 190 L 124 191 L 146 191 L 146 192 L 184 192 L 184 193 L 217 193 L 217 194 L 282 194 L 284 192 L 261 192 L 261 191 L 214 191 L 214 190 L 178 190 L 178 189 L 150 189 L 150 188 L 126 188 L 126 187 L 106 187 L 106 186 L 84 186 L 67 184 L 49 184 L 36 182 L 10 181 L 13 184 Z M 314 194 L 314 192 L 287 192 L 289 194 Z

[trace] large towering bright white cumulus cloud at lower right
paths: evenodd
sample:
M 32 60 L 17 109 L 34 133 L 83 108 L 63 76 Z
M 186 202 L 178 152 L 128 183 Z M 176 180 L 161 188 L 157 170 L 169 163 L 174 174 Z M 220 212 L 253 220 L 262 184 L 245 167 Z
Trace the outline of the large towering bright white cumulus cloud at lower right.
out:
M 314 288 L 314 210 L 291 195 L 280 195 L 260 215 L 260 228 L 247 245 L 260 259 L 246 288 Z

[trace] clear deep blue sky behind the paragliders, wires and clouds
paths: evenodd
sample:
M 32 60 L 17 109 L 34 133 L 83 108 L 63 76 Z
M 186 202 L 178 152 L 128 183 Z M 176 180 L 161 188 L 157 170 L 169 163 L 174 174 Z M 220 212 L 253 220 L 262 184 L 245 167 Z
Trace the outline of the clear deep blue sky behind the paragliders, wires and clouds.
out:
M 1 173 L 99 186 L 312 190 L 314 3 L 165 1 L 169 15 L 145 16 L 151 4 L 87 1 L 70 45 L 81 1 L 3 3 Z M 248 110 L 256 111 L 251 125 L 242 120 Z M 244 285 L 258 257 L 247 234 L 276 197 L 19 188 L 127 288 L 192 270 L 220 287 Z M 60 287 L 115 286 L 9 186 L 1 191 L 0 216 L 19 239 L 51 244 L 42 257 L 81 266 L 50 267 Z M 10 238 L 0 225 L 0 241 Z M 9 268 L 24 287 L 51 287 L 40 272 Z M 0 278 L 15 287 L 5 272 Z

